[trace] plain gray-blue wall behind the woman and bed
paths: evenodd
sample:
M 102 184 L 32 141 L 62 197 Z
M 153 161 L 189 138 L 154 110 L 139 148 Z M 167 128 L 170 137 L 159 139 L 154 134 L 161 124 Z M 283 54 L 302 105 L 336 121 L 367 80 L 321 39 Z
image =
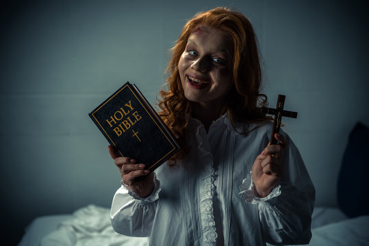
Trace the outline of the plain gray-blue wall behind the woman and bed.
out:
M 336 205 L 348 133 L 358 120 L 369 125 L 367 4 L 15 1 L 1 10 L 1 204 L 3 226 L 13 224 L 5 232 L 17 238 L 36 216 L 110 206 L 120 174 L 88 112 L 125 81 L 155 103 L 186 19 L 218 5 L 251 19 L 264 92 L 271 106 L 286 94 L 285 109 L 298 111 L 285 131 L 305 159 L 316 204 Z

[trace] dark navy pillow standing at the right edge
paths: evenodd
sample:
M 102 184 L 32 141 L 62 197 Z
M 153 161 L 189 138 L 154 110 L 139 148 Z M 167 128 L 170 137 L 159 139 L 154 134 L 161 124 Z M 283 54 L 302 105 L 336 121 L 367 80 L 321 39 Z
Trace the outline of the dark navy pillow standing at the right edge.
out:
M 348 137 L 340 174 L 338 206 L 348 217 L 369 215 L 369 128 L 357 122 Z

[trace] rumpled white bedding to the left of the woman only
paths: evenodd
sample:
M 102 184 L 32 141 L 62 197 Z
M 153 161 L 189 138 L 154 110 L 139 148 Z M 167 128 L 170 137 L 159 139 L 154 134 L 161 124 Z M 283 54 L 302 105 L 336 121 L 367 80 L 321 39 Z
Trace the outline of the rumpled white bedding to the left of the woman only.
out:
M 18 246 L 118 246 L 149 245 L 149 238 L 123 236 L 114 232 L 110 209 L 93 204 L 71 215 L 37 217 L 25 228 Z

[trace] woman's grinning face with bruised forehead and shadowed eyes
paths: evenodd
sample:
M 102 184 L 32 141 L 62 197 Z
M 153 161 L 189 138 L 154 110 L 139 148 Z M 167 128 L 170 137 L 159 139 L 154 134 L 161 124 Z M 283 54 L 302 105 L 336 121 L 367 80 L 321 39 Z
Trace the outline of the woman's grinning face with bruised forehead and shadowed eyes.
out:
M 233 86 L 233 46 L 218 29 L 199 25 L 188 38 L 179 59 L 179 76 L 184 94 L 203 105 L 224 104 Z

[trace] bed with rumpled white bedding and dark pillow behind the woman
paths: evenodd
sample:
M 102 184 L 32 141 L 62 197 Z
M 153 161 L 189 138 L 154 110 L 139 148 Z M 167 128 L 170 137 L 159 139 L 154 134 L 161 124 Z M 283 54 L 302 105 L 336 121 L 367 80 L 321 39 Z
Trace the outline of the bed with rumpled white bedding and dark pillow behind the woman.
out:
M 311 246 L 369 246 L 369 128 L 357 123 L 350 133 L 338 177 L 338 207 L 316 207 Z M 38 217 L 25 228 L 19 246 L 149 245 L 149 238 L 114 232 L 110 209 L 93 204 L 71 215 Z

